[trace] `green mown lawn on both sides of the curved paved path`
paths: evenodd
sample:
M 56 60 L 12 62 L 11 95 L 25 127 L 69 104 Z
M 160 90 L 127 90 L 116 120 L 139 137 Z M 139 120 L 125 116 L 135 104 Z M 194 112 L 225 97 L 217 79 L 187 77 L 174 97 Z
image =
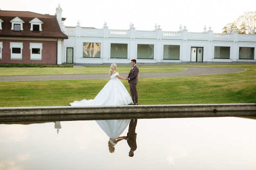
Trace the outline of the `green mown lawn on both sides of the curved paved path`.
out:
M 140 78 L 137 85 L 139 104 L 256 103 L 256 64 L 178 64 L 139 67 L 140 73 L 146 73 L 173 71 L 173 68 L 179 70 L 182 67 L 193 66 L 236 67 L 246 68 L 247 71 L 222 75 Z M 85 71 L 86 73 L 102 73 L 103 69 L 109 69 L 109 66 L 86 66 L 81 69 L 86 68 L 90 68 L 88 69 L 90 71 Z M 129 68 L 130 66 L 118 66 L 117 71 L 127 73 Z M 13 75 L 28 74 L 26 68 L 23 73 L 20 68 L 6 69 Z M 59 68 L 49 69 L 52 74 L 62 73 Z M 61 69 L 63 72 L 76 70 L 76 68 Z M 31 75 L 33 72 L 36 71 L 32 69 Z M 121 81 L 129 89 L 128 83 L 125 80 Z M 107 82 L 108 79 L 0 82 L 0 107 L 67 106 L 74 100 L 93 99 Z

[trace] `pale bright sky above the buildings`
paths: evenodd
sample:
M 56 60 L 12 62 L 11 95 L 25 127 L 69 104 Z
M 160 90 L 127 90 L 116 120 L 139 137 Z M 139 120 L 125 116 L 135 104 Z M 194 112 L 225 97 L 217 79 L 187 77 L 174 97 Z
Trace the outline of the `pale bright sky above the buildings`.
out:
M 247 0 L 44 0 L 36 4 L 34 0 L 0 0 L 0 9 L 5 11 L 31 11 L 55 15 L 60 4 L 65 26 L 102 29 L 104 22 L 108 29 L 130 28 L 152 31 L 155 24 L 162 31 L 179 31 L 180 25 L 189 32 L 203 32 L 204 26 L 214 33 L 222 33 L 222 28 L 234 22 L 245 12 L 256 11 L 256 1 Z

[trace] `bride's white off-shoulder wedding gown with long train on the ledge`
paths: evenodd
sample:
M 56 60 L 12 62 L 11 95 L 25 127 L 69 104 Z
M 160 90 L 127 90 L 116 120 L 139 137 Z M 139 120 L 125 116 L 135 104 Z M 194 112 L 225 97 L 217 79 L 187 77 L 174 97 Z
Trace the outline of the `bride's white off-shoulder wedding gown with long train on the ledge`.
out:
M 124 84 L 116 77 L 119 73 L 110 76 L 108 83 L 101 89 L 94 99 L 83 99 L 70 103 L 71 106 L 115 106 L 133 104 L 130 94 Z

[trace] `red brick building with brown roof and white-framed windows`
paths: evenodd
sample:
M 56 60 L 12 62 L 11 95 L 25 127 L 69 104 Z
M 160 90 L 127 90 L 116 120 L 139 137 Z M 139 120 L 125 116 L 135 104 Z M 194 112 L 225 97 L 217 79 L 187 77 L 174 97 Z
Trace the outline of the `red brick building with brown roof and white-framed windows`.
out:
M 61 11 L 43 15 L 0 10 L 0 63 L 61 64 L 58 58 L 68 38 L 60 27 L 65 20 Z

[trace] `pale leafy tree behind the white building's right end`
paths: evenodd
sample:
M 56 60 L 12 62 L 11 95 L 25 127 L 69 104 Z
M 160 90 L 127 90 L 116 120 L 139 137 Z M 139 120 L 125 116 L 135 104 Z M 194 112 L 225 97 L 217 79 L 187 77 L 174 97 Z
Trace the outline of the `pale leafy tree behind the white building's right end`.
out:
M 229 23 L 223 27 L 222 33 L 229 32 L 228 29 L 231 29 L 231 32 L 234 31 L 234 28 L 237 28 L 236 31 L 242 34 L 250 34 L 251 31 L 255 33 L 256 26 L 256 11 L 245 12 L 244 15 L 239 16 L 236 21 Z M 253 30 L 252 30 L 253 29 Z

